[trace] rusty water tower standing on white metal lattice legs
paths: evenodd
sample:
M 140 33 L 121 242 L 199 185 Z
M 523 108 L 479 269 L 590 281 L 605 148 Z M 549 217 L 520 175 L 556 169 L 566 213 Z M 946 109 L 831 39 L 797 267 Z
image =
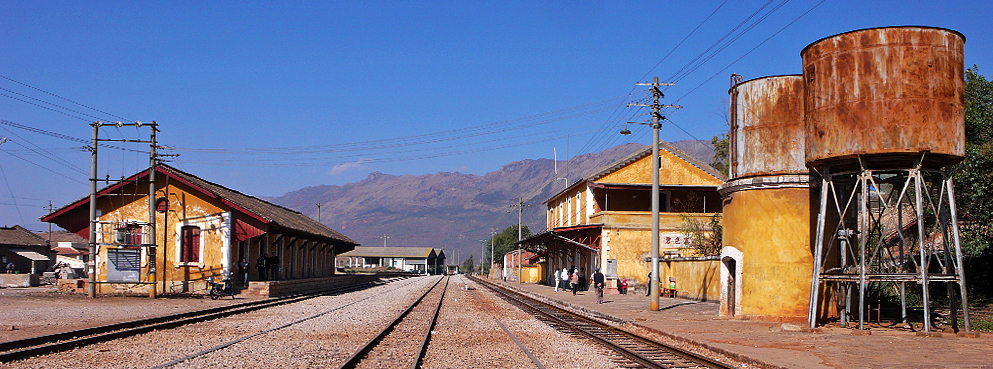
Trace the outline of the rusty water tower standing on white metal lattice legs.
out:
M 930 332 L 927 287 L 945 282 L 953 316 L 960 300 L 970 330 L 951 176 L 964 156 L 964 43 L 948 29 L 886 27 L 830 36 L 800 53 L 805 160 L 822 189 L 811 327 L 823 309 L 818 296 L 830 289 L 842 323 L 857 314 L 863 329 L 870 284 L 900 292 L 906 321 L 909 282 L 924 286 Z

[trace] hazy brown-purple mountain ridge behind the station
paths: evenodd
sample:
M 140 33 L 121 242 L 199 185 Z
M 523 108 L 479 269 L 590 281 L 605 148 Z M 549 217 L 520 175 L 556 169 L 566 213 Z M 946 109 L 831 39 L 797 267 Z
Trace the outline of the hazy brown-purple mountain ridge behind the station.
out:
M 677 141 L 673 145 L 710 162 L 713 149 L 707 141 Z M 598 153 L 573 157 L 558 163 L 559 176 L 569 168 L 572 184 L 595 170 L 620 160 L 645 145 L 624 144 Z M 709 151 L 707 150 L 709 149 Z M 700 156 L 697 156 L 700 155 Z M 523 197 L 527 204 L 524 224 L 532 232 L 545 228 L 542 202 L 565 188 L 556 179 L 551 159 L 521 160 L 485 175 L 439 172 L 427 175 L 394 176 L 374 172 L 361 181 L 345 185 L 320 185 L 266 198 L 321 221 L 363 246 L 427 246 L 461 249 L 463 259 L 479 252 L 481 239 L 490 229 L 498 231 L 517 224 L 512 205 Z M 454 254 L 446 251 L 454 262 Z

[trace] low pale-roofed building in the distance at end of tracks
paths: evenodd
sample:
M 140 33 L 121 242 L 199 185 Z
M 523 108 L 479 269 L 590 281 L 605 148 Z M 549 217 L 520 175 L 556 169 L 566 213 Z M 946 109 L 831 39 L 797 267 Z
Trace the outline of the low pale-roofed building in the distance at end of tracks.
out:
M 393 268 L 422 274 L 442 274 L 445 251 L 431 247 L 362 247 L 338 255 L 338 268 Z

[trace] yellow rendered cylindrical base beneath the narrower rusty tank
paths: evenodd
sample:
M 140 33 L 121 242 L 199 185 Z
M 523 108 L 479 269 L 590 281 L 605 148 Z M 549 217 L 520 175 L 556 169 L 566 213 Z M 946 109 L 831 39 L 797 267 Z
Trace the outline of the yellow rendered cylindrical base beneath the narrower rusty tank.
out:
M 806 188 L 741 191 L 725 200 L 724 246 L 743 255 L 738 316 L 806 319 L 813 267 L 811 219 Z

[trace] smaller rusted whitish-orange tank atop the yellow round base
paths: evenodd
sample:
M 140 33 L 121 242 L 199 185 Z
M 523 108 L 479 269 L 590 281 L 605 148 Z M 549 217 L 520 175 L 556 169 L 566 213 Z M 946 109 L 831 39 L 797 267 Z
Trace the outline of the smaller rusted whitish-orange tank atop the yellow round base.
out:
M 806 174 L 803 76 L 756 78 L 730 94 L 729 177 Z

